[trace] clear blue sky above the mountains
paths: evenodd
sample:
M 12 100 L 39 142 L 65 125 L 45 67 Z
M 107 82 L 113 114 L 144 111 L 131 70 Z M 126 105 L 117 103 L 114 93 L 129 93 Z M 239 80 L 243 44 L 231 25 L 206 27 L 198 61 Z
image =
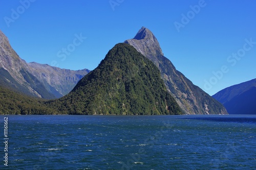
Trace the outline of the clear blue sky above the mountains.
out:
M 2 0 L 0 29 L 27 62 L 92 70 L 144 26 L 164 56 L 212 95 L 256 78 L 255 9 L 251 0 Z

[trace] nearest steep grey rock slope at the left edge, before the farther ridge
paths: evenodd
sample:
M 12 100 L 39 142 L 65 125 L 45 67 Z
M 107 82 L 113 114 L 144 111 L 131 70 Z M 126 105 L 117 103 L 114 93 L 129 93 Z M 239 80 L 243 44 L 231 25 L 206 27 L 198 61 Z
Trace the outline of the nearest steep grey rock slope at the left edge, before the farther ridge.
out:
M 5 72 L 0 75 L 1 84 L 28 95 L 46 99 L 55 98 L 36 77 L 30 74 L 27 67 L 28 64 L 19 58 L 12 49 L 8 38 L 0 31 L 0 68 L 2 68 L 2 72 Z M 5 84 L 5 82 L 7 83 Z

